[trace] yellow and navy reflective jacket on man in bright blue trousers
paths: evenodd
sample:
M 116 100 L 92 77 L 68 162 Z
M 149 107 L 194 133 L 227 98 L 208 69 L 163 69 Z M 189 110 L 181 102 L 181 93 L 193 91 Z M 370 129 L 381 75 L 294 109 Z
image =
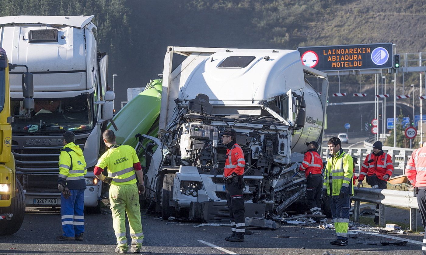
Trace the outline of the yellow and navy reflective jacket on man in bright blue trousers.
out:
M 70 189 L 85 189 L 84 176 L 87 173 L 83 150 L 73 142 L 60 149 L 58 182 L 64 182 Z

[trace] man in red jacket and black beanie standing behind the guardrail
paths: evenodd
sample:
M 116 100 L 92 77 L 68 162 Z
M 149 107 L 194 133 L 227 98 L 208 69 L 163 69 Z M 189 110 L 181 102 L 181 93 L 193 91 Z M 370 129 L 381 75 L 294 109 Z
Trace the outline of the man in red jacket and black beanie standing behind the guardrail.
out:
M 358 176 L 358 187 L 363 185 L 364 177 L 367 176 L 367 183 L 373 189 L 387 188 L 387 181 L 394 171 L 392 157 L 382 150 L 383 144 L 377 141 L 373 144 L 373 153 L 366 156 L 366 160 L 361 167 L 360 176 Z M 374 223 L 379 224 L 379 204 L 376 205 L 376 213 L 374 214 Z

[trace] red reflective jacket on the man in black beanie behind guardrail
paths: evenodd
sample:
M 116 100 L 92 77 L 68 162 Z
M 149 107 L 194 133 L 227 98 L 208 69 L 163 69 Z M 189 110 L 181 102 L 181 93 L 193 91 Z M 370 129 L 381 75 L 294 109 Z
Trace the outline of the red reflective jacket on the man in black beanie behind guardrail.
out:
M 368 163 L 371 159 L 373 161 Z M 383 180 L 383 176 L 385 176 L 385 174 L 392 176 L 393 171 L 394 164 L 392 163 L 392 158 L 388 153 L 382 153 L 380 156 L 370 153 L 367 155 L 366 160 L 364 160 L 360 176 L 358 176 L 358 181 L 363 181 L 365 176 L 372 175 L 376 175 L 377 178 Z

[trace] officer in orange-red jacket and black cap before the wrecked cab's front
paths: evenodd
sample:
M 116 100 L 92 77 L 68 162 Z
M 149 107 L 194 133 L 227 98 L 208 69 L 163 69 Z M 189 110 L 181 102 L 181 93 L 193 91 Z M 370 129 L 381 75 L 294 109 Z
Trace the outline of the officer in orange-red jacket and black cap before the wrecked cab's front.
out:
M 237 132 L 225 129 L 222 133 L 222 144 L 226 145 L 226 161 L 223 172 L 225 179 L 226 201 L 229 208 L 232 234 L 226 241 L 242 242 L 245 234 L 244 211 L 244 153 L 236 143 Z

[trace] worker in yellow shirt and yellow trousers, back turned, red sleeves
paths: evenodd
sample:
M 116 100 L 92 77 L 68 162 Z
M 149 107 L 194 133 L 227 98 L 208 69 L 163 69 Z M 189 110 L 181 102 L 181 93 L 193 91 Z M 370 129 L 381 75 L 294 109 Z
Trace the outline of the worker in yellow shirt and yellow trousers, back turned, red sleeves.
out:
M 115 252 L 127 253 L 128 250 L 126 213 L 132 237 L 130 251 L 139 253 L 144 239 L 139 206 L 139 194 L 145 193 L 141 164 L 133 147 L 115 142 L 115 134 L 112 130 L 105 130 L 102 138 L 109 149 L 98 160 L 94 173 L 101 181 L 111 184 L 109 202 L 111 203 L 112 224 L 117 238 Z M 108 176 L 102 174 L 105 167 L 108 168 Z

